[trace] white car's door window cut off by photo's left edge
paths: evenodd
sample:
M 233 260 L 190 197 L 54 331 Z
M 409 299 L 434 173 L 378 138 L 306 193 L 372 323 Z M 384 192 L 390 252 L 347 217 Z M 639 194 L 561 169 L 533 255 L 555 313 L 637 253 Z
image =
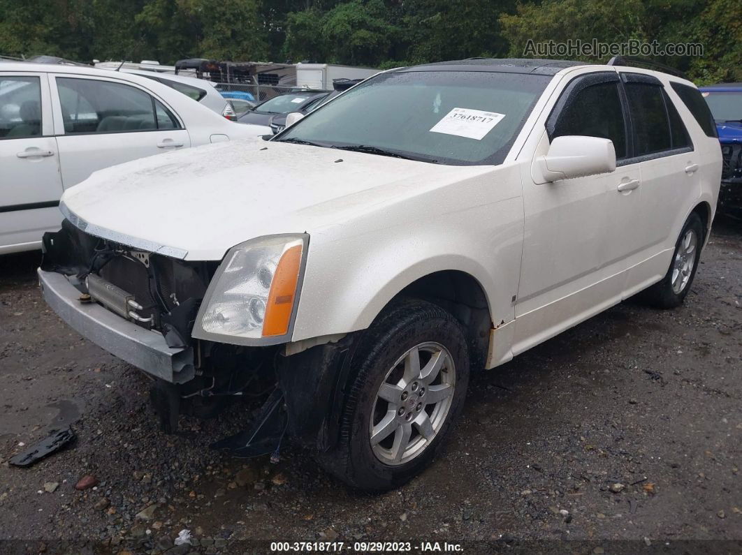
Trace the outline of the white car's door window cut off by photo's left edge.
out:
M 21 139 L 41 133 L 39 78 L 0 76 L 0 139 Z

